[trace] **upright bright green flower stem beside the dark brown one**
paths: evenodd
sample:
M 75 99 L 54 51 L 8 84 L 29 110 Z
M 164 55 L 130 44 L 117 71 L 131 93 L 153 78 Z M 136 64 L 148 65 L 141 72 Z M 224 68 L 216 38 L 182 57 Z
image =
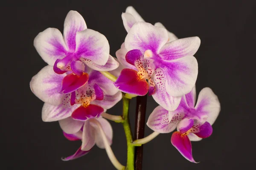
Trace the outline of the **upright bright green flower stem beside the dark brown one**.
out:
M 127 165 L 126 170 L 134 170 L 134 150 L 135 147 L 132 144 L 133 138 L 131 134 L 131 127 L 129 122 L 129 103 L 130 99 L 127 99 L 125 97 L 123 99 L 123 122 L 122 125 L 125 130 L 125 136 L 127 140 Z

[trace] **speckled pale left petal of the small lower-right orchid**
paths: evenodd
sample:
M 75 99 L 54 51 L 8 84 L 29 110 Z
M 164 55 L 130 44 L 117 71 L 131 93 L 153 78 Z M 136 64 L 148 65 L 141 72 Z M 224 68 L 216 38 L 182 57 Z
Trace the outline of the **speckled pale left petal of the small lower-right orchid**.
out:
M 149 128 L 159 133 L 170 133 L 177 127 L 177 124 L 183 118 L 183 113 L 175 113 L 169 119 L 169 112 L 161 106 L 157 106 L 148 117 L 147 125 Z

